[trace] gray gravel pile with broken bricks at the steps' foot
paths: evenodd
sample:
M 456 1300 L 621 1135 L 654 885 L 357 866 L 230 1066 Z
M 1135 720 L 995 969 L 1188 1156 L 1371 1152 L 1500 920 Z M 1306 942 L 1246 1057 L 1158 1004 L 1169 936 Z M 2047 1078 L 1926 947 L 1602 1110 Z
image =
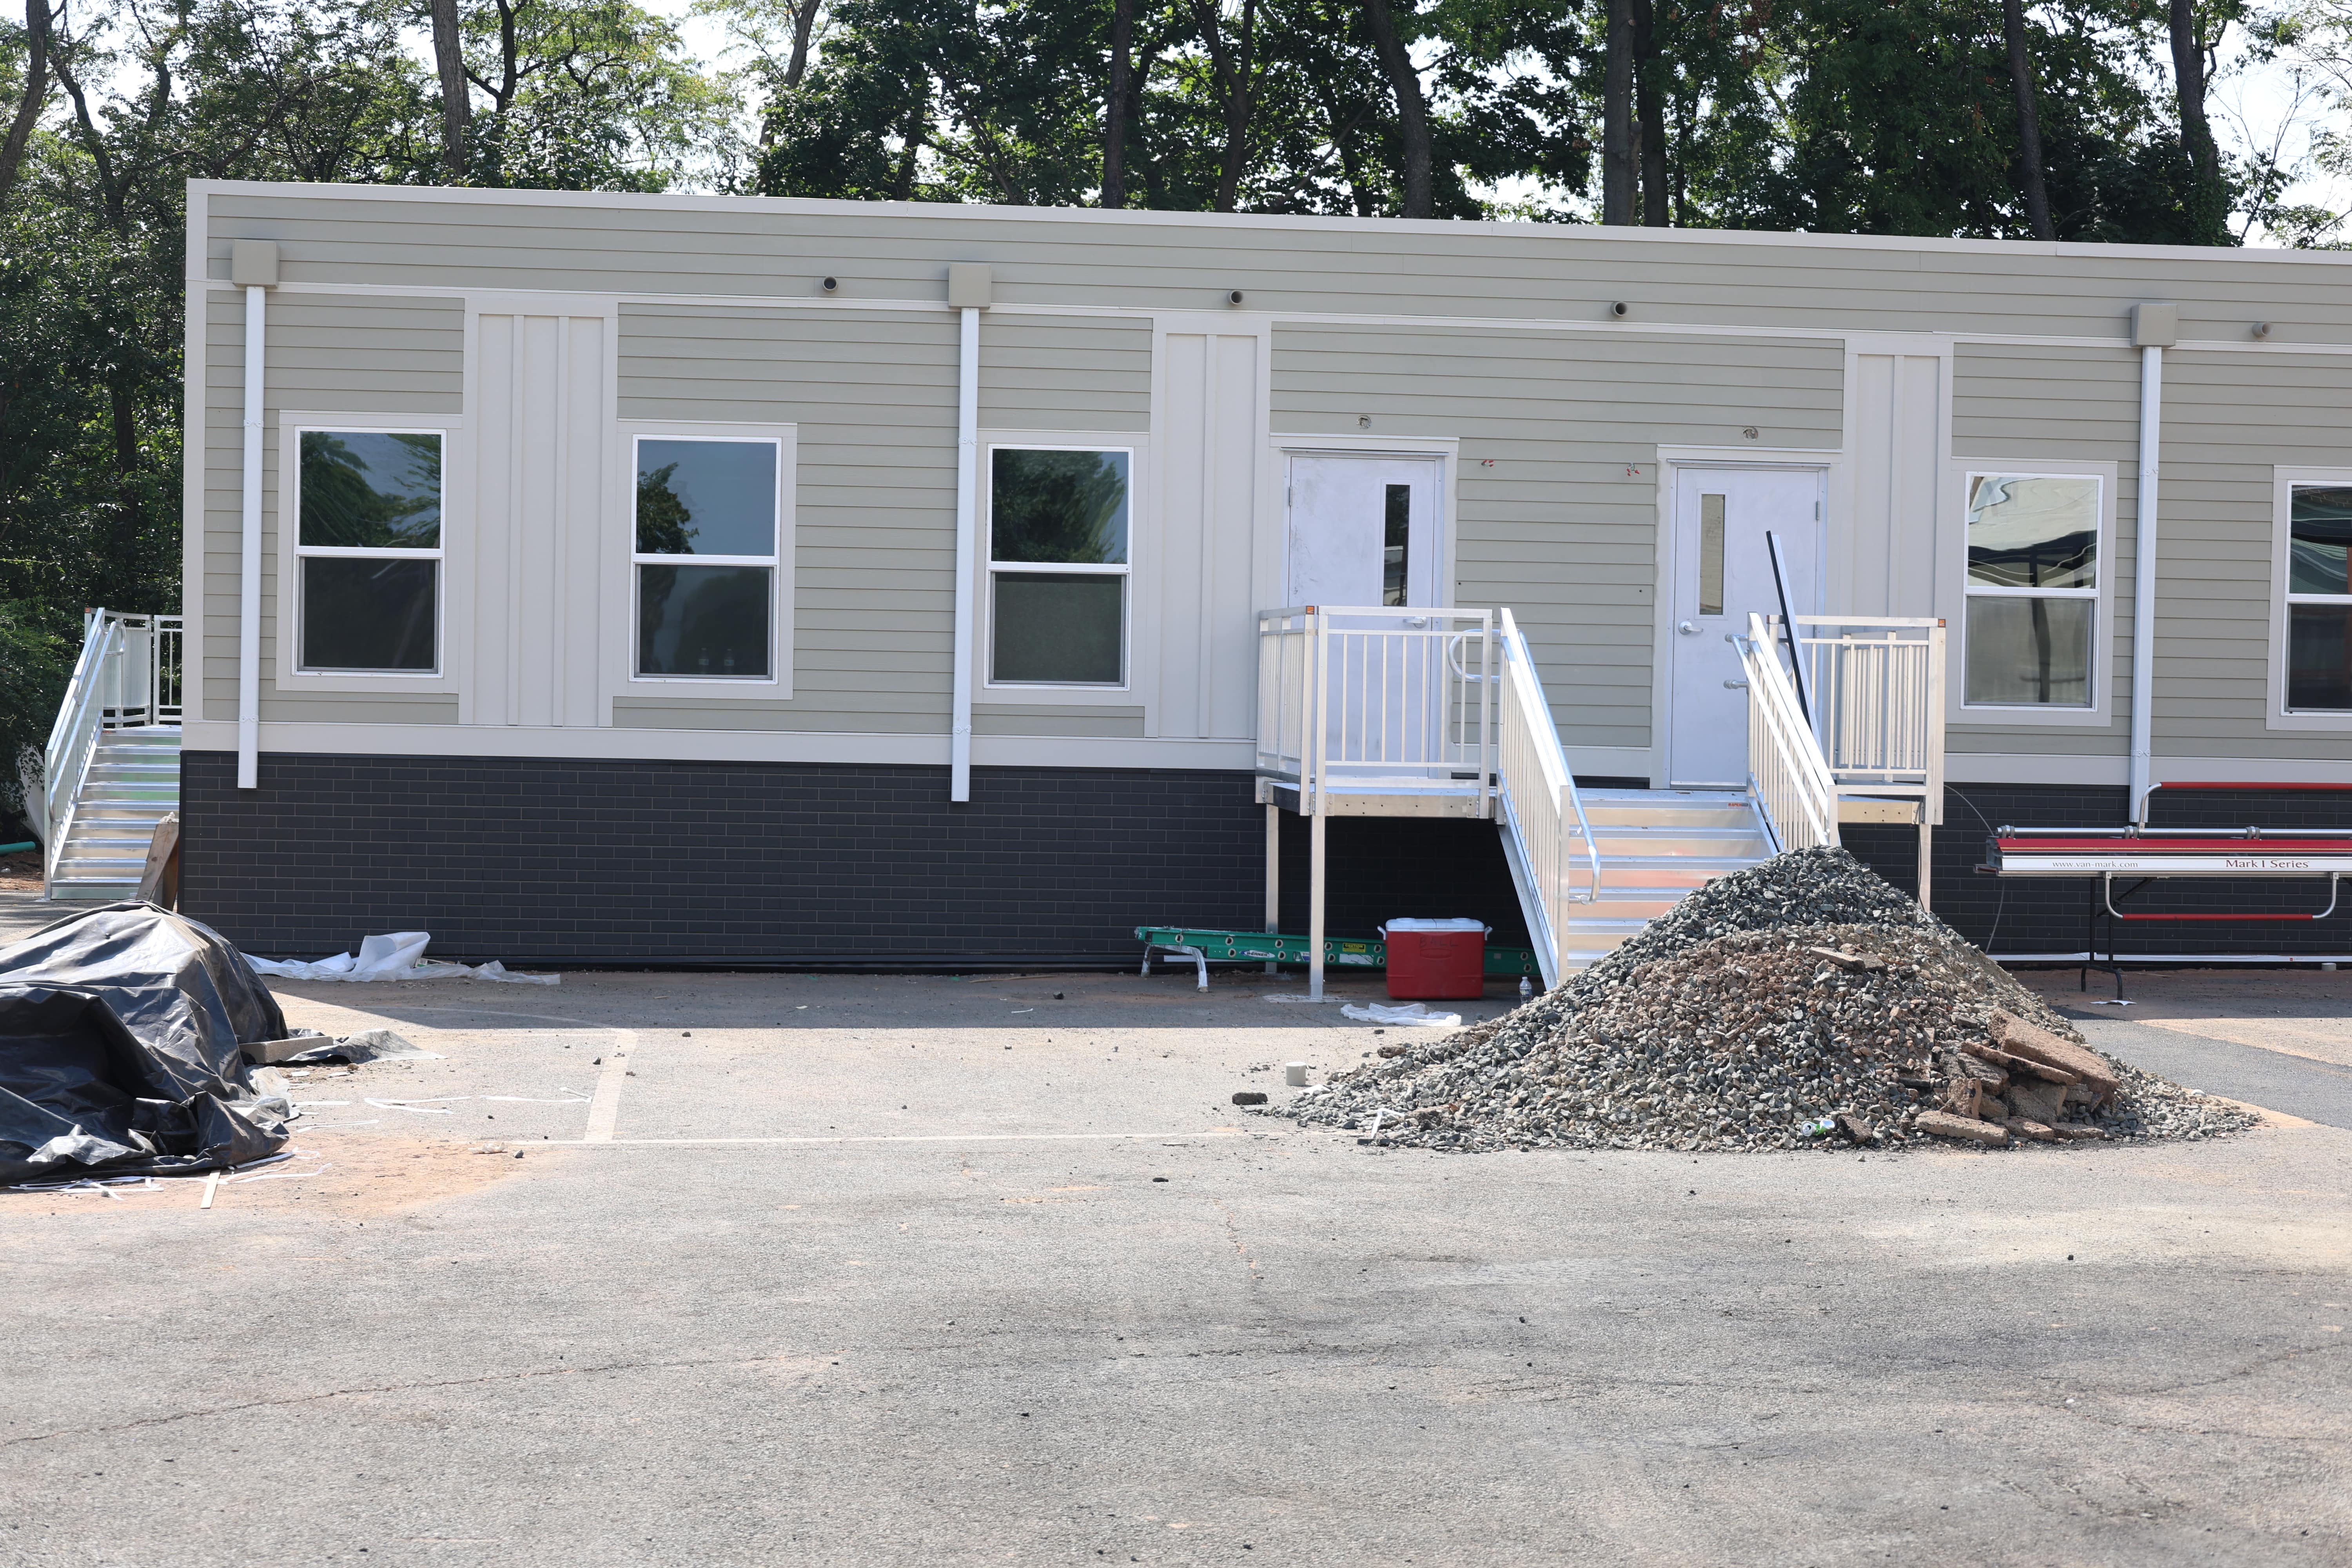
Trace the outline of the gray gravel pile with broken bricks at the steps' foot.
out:
M 1439 1150 L 1903 1145 L 1926 1140 L 1922 1114 L 1945 1135 L 1999 1145 L 2253 1124 L 2091 1053 L 1842 849 L 1722 877 L 1517 1011 L 1409 1041 L 1282 1114 Z M 1832 1133 L 1809 1131 L 1823 1119 Z

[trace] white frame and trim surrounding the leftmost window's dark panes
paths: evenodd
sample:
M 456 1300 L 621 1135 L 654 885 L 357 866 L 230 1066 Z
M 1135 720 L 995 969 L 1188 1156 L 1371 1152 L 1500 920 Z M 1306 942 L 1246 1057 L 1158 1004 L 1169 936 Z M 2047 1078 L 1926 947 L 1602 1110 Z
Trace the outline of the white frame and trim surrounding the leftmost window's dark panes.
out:
M 440 435 L 442 437 L 442 520 L 440 545 L 433 550 L 355 550 L 348 545 L 301 543 L 301 437 L 306 430 L 350 435 Z M 278 531 L 275 649 L 266 656 L 270 679 L 282 693 L 294 691 L 376 691 L 414 696 L 454 696 L 459 675 L 452 670 L 449 635 L 454 616 L 466 614 L 468 595 L 452 583 L 452 564 L 463 550 L 452 543 L 463 515 L 466 477 L 473 473 L 463 449 L 466 421 L 456 414 L 336 414 L 282 409 L 278 414 L 278 505 L 270 522 Z M 430 559 L 433 571 L 433 668 L 430 670 L 308 670 L 301 663 L 303 562 L 310 557 L 343 559 Z

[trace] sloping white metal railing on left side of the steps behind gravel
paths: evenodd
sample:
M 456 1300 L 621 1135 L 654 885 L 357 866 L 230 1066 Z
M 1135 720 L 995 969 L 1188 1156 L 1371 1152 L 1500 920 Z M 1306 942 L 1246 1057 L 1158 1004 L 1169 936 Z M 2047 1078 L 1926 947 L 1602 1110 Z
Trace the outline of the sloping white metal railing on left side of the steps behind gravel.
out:
M 1503 701 L 1496 745 L 1496 802 L 1510 835 L 1512 875 L 1526 879 L 1526 898 L 1536 931 L 1536 959 L 1543 985 L 1559 983 L 1559 943 L 1566 936 L 1571 903 L 1592 903 L 1602 891 L 1602 851 L 1576 790 L 1576 773 L 1559 745 L 1552 705 L 1543 696 L 1536 658 L 1526 649 L 1517 618 L 1503 611 Z M 1573 842 L 1583 842 L 1585 889 L 1571 891 Z

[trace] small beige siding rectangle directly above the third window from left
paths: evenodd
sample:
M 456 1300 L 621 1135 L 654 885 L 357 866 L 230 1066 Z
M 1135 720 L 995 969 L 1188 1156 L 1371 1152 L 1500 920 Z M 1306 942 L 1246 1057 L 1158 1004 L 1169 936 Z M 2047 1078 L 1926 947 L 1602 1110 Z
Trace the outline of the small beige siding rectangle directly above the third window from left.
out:
M 1152 324 L 981 313 L 981 428 L 1150 430 Z

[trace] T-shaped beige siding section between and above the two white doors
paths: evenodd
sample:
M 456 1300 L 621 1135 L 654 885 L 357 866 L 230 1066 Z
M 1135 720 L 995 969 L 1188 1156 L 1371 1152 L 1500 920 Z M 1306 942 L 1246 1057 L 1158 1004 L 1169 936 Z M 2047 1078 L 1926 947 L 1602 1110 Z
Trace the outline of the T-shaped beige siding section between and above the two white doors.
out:
M 1517 616 L 1566 745 L 1642 748 L 1658 447 L 1837 447 L 1842 374 L 1837 343 L 1277 327 L 1272 421 L 1458 437 L 1456 604 Z

